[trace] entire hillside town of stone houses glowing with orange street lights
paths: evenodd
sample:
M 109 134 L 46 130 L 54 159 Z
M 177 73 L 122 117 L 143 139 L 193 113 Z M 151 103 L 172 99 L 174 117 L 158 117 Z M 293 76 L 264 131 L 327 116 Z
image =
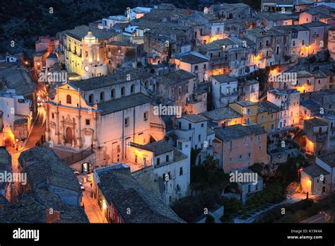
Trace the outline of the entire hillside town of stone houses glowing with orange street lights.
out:
M 0 187 L 1 223 L 335 223 L 335 1 L 129 7 L 0 54 Z

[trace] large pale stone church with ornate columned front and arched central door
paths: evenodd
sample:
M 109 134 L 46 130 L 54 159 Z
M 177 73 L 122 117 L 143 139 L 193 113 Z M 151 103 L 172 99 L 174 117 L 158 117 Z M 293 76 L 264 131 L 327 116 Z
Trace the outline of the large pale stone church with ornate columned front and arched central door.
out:
M 126 158 L 128 141 L 148 144 L 150 102 L 140 80 L 103 76 L 68 83 L 45 104 L 46 140 L 50 146 L 93 147 L 100 163 L 119 162 Z

